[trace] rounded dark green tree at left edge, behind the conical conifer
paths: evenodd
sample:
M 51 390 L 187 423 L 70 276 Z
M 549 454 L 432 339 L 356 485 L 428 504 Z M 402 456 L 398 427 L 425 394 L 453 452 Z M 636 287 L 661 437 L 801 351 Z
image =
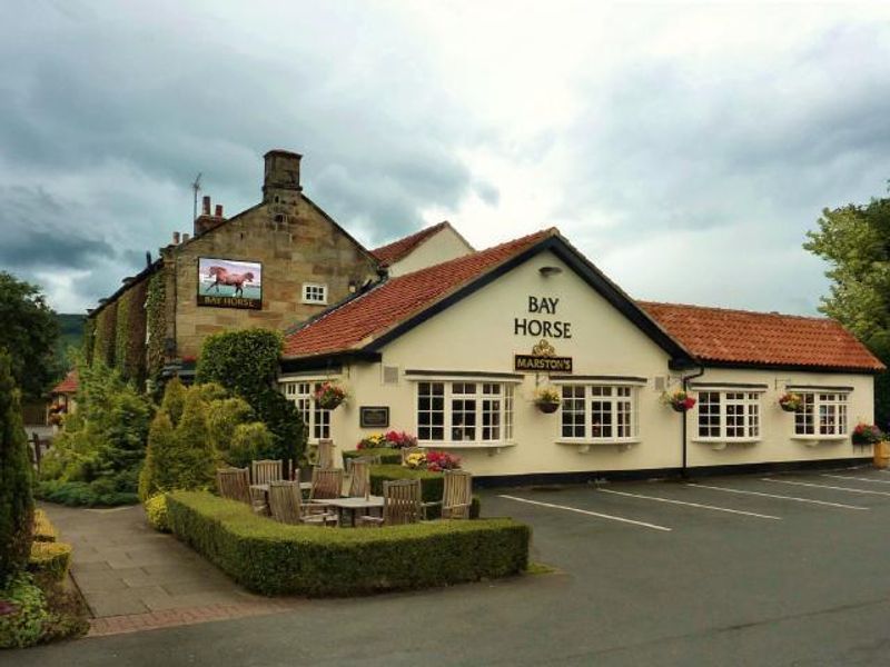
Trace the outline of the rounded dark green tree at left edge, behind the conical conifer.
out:
M 40 397 L 59 375 L 55 358 L 59 338 L 56 313 L 47 306 L 40 288 L 0 271 L 0 322 L 16 385 L 24 397 Z

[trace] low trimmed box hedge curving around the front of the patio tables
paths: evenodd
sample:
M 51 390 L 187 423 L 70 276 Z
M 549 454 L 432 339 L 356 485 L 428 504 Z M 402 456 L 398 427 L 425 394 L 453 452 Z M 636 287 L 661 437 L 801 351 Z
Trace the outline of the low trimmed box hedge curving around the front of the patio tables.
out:
M 248 589 L 347 596 L 522 573 L 531 528 L 507 518 L 334 529 L 289 526 L 205 491 L 167 496 L 174 534 Z

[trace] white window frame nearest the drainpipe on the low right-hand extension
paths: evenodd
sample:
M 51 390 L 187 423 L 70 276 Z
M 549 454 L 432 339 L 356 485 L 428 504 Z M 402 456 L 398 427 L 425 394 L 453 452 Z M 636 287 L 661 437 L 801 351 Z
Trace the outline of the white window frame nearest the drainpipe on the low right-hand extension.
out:
M 716 396 L 714 402 L 709 400 Z M 700 442 L 759 442 L 763 439 L 763 406 L 761 391 L 752 391 L 749 388 L 738 389 L 699 389 L 698 406 L 695 412 L 695 436 L 694 440 Z M 706 410 L 715 406 L 716 410 Z M 702 424 L 702 418 L 716 417 L 709 425 Z M 702 434 L 702 427 L 706 426 L 712 432 Z M 741 429 L 741 434 L 738 430 Z

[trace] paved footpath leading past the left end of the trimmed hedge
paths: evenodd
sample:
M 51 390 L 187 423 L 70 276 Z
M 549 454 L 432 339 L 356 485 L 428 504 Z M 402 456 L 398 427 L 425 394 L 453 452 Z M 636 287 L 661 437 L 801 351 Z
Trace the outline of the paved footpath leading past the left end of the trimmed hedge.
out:
M 71 576 L 95 617 L 90 636 L 274 614 L 306 604 L 247 593 L 172 536 L 152 530 L 139 505 L 41 507 L 61 539 L 75 547 Z

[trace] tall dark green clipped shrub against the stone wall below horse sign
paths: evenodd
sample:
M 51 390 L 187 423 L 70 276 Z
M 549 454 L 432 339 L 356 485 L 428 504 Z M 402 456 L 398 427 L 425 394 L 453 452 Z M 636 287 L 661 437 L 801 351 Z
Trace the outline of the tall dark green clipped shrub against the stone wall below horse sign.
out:
M 218 382 L 244 398 L 275 437 L 271 458 L 299 460 L 306 429 L 299 410 L 273 385 L 278 377 L 281 334 L 270 329 L 222 331 L 201 346 L 195 379 Z

